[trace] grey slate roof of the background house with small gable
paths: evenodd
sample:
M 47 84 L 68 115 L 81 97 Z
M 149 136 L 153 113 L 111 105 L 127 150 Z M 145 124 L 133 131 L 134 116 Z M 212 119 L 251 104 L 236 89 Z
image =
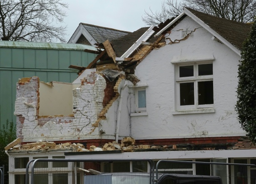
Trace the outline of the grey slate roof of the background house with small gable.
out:
M 96 26 L 92 24 L 85 24 L 82 23 L 82 25 L 87 29 L 89 34 L 92 35 L 92 37 L 98 42 L 98 43 L 103 43 L 107 39 L 111 41 L 112 39 L 117 39 L 121 36 L 124 36 L 128 33 L 129 31 L 121 31 L 118 29 L 112 29 L 108 27 L 101 27 L 101 26 Z

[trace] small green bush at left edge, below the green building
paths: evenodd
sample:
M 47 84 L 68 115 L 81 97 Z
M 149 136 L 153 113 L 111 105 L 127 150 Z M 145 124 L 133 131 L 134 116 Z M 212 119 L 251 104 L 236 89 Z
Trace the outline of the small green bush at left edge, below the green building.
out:
M 6 121 L 0 129 L 0 167 L 5 165 L 5 183 L 8 183 L 8 155 L 5 154 L 5 146 L 16 139 L 16 126 Z

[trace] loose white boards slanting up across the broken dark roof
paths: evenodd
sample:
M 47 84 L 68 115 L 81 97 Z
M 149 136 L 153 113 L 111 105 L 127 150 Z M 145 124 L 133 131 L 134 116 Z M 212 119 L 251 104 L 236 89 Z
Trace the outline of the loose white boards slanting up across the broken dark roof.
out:
M 149 27 L 149 29 L 142 34 L 142 36 L 121 56 L 121 58 L 128 58 L 135 50 L 140 46 L 142 41 L 147 41 L 152 34 L 154 34 L 153 31 L 154 26 Z

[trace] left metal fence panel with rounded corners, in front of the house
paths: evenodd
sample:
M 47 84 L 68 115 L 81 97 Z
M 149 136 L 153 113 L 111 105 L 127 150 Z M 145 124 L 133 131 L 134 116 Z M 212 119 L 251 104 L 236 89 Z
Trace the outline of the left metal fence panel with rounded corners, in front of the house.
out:
M 152 184 L 153 170 L 150 159 L 41 157 L 27 163 L 25 184 Z

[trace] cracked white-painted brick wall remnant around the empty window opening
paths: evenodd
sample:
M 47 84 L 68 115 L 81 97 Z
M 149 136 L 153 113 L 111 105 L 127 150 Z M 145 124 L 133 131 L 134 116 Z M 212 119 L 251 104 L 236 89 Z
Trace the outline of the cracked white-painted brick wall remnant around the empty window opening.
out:
M 73 116 L 39 117 L 39 78 L 23 78 L 17 83 L 15 102 L 17 136 L 23 142 L 32 142 L 46 139 L 79 140 L 98 135 L 99 131 L 94 131 L 97 128 L 94 123 L 103 109 L 105 88 L 105 79 L 92 73 L 80 87 L 73 90 Z

